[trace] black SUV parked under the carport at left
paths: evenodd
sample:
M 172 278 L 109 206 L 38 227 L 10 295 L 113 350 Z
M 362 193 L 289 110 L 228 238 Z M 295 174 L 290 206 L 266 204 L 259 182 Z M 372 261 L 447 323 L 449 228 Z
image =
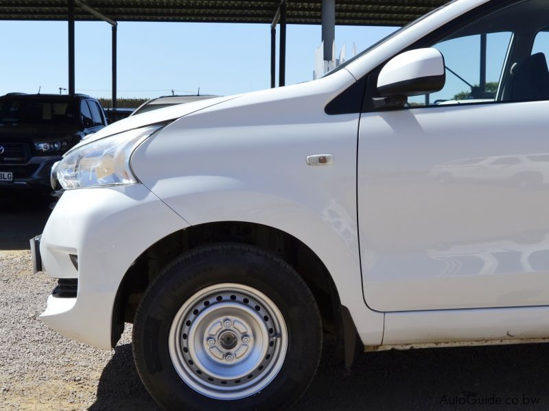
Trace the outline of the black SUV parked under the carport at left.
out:
M 107 125 L 99 101 L 86 95 L 0 97 L 0 193 L 51 192 L 51 166 L 87 134 Z

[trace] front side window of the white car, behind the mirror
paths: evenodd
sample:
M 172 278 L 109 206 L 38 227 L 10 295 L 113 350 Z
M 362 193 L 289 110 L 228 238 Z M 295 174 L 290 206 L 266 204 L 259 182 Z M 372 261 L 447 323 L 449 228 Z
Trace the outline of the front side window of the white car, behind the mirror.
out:
M 422 47 L 441 51 L 446 82 L 410 108 L 549 100 L 549 1 L 515 1 Z

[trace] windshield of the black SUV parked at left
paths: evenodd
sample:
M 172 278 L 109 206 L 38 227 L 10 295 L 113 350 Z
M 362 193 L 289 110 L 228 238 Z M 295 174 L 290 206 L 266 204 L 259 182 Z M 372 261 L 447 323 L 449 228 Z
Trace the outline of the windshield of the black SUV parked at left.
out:
M 70 100 L 0 99 L 0 124 L 68 124 L 75 119 Z

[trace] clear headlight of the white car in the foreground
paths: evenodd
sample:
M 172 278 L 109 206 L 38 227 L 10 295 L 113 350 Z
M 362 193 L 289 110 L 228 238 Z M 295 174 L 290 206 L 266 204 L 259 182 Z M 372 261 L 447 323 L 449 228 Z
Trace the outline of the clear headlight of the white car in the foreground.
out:
M 132 173 L 130 158 L 141 142 L 161 127 L 132 129 L 69 151 L 56 166 L 59 183 L 65 190 L 139 183 Z

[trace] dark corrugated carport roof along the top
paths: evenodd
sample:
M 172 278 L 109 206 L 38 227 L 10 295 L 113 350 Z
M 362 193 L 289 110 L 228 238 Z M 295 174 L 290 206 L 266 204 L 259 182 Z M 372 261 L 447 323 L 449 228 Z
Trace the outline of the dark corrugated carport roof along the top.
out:
M 336 0 L 336 24 L 401 26 L 449 0 Z M 0 0 L 0 20 L 67 20 L 67 0 Z M 86 0 L 115 21 L 271 23 L 280 0 Z M 321 0 L 288 0 L 288 23 L 320 24 Z M 75 20 L 95 16 L 75 6 Z

